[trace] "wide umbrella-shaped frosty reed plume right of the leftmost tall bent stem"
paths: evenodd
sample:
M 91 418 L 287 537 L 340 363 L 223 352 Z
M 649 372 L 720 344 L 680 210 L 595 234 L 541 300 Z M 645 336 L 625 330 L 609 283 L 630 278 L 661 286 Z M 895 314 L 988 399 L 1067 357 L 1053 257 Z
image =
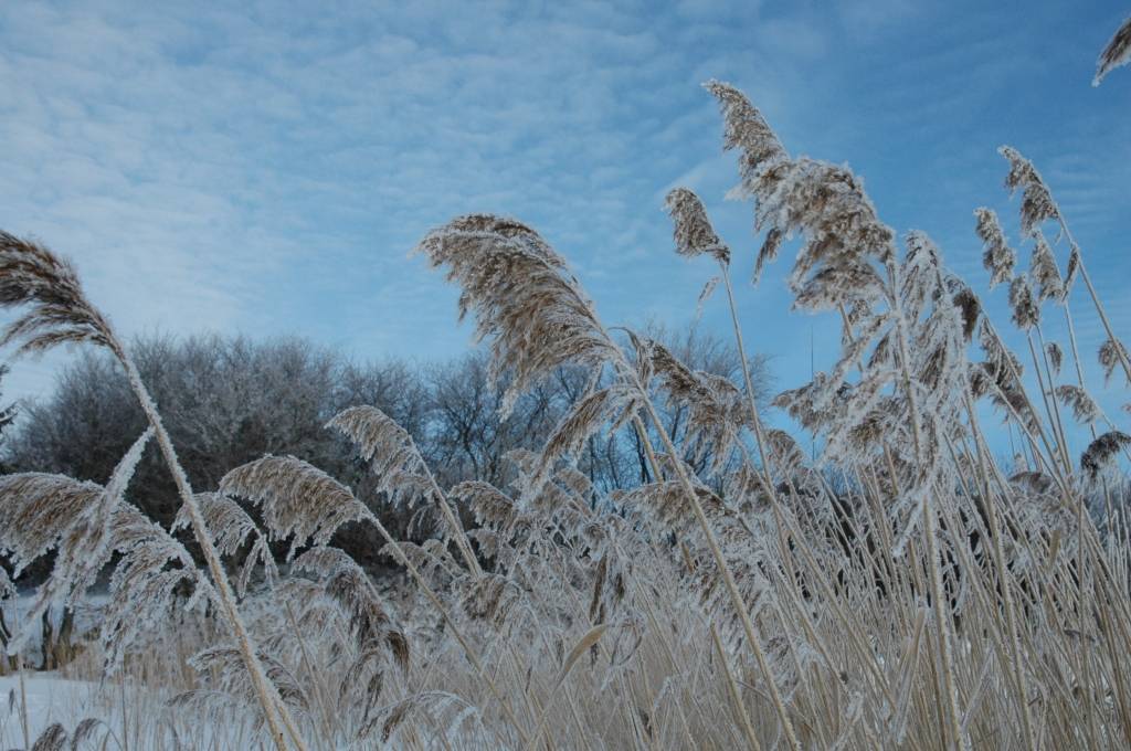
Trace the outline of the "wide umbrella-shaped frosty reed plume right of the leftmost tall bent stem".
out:
M 338 527 L 371 516 L 348 487 L 293 456 L 265 456 L 228 472 L 219 481 L 223 493 L 262 507 L 271 539 L 291 537 L 286 560 L 312 541 L 326 545 Z

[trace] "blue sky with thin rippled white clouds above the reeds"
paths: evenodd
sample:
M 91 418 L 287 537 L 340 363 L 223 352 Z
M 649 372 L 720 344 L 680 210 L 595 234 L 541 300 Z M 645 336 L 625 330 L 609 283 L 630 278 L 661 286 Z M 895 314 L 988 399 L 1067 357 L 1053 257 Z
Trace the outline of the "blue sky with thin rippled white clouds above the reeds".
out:
M 466 352 L 457 291 L 411 256 L 472 212 L 537 228 L 610 325 L 683 326 L 708 259 L 663 212 L 696 190 L 734 249 L 748 346 L 778 388 L 838 347 L 791 312 L 791 250 L 756 288 L 752 207 L 700 84 L 728 80 L 793 154 L 847 163 L 881 218 L 922 230 L 1003 320 L 973 212 L 1011 144 L 1044 173 L 1131 336 L 1131 69 L 1093 88 L 1124 2 L 0 3 L 0 227 L 76 262 L 127 336 L 297 334 L 360 360 Z M 1063 264 L 1067 249 L 1057 248 Z M 1027 265 L 1027 252 L 1022 262 Z M 1073 297 L 1089 385 L 1098 319 Z M 1063 342 L 1046 311 L 1050 338 Z M 725 297 L 700 325 L 726 335 Z M 1008 328 L 1008 327 L 1003 327 Z M 1065 347 L 1067 348 L 1067 347 Z M 17 361 L 44 396 L 67 353 Z M 1125 417 L 1125 413 L 1123 414 Z

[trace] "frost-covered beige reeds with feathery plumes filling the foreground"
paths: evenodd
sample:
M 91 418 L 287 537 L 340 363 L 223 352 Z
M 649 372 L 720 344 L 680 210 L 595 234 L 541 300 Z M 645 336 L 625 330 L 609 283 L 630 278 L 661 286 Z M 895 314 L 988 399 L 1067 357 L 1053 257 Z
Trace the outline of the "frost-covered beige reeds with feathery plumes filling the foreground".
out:
M 1126 32 L 1097 79 L 1126 62 Z M 472 215 L 418 252 L 460 286 L 460 314 L 474 317 L 493 376 L 509 379 L 502 411 L 555 368 L 588 373 L 544 449 L 511 454 L 515 482 L 443 487 L 406 431 L 355 406 L 328 429 L 371 463 L 379 491 L 417 511 L 424 544 L 397 539 L 295 457 L 257 459 L 200 493 L 70 266 L 0 236 L 0 303 L 21 312 L 5 342 L 107 348 L 148 421 L 105 485 L 0 480 L 0 547 L 15 573 L 55 551 L 35 607 L 77 601 L 115 567 L 100 640 L 71 670 L 148 689 L 120 694 L 133 746 L 206 748 L 200 728 L 225 717 L 247 725 L 243 748 L 279 751 L 1131 745 L 1120 468 L 1131 437 L 1085 389 L 1095 365 L 1077 347 L 1073 296 L 1103 321 L 1113 388 L 1131 382 L 1131 362 L 1050 187 L 1001 149 L 1027 271 L 998 217 L 977 210 L 986 267 L 1008 285 L 1027 344 L 1015 354 L 930 239 L 898 240 L 846 167 L 791 155 L 742 93 L 707 88 L 739 155 L 737 192 L 765 231 L 758 269 L 800 241 L 794 305 L 843 330 L 835 366 L 776 399 L 820 438 L 815 463 L 763 424 L 749 373 L 735 386 L 607 327 L 537 232 Z M 731 251 L 702 204 L 677 189 L 668 209 L 676 250 L 718 265 L 733 312 Z M 1067 318 L 1064 344 L 1042 334 L 1053 314 Z M 736 316 L 734 335 L 741 351 Z M 690 421 L 682 446 L 659 416 L 673 403 Z M 1022 435 L 1027 466 L 995 459 L 983 405 Z M 1068 448 L 1073 421 L 1090 431 L 1081 456 Z M 607 430 L 634 431 L 650 472 L 599 494 L 571 459 Z M 178 483 L 172 529 L 127 500 L 149 441 Z M 714 460 L 697 471 L 691 447 Z M 372 526 L 403 579 L 377 581 L 330 546 L 348 521 Z M 6 577 L 0 587 L 10 592 Z M 64 748 L 70 730 L 42 748 Z M 92 748 L 130 745 L 128 732 L 103 741 L 97 724 L 74 732 Z

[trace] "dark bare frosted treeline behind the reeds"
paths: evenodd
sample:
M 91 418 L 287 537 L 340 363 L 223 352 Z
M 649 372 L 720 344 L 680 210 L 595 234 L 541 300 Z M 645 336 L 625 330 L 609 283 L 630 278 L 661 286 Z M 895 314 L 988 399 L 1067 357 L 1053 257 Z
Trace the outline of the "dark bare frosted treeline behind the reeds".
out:
M 737 382 L 734 348 L 697 329 L 651 327 L 694 370 Z M 402 538 L 417 536 L 414 510 L 391 508 L 374 492 L 377 478 L 336 432 L 325 425 L 342 409 L 373 405 L 416 440 L 441 485 L 483 480 L 506 486 L 512 472 L 506 455 L 541 450 L 554 425 L 588 386 L 581 372 L 561 369 L 525 394 L 500 418 L 506 379 L 492 381 L 482 353 L 441 363 L 389 359 L 359 363 L 340 352 L 300 338 L 253 340 L 196 336 L 147 336 L 132 354 L 149 385 L 192 486 L 215 489 L 224 474 L 266 454 L 294 455 L 351 485 Z M 767 387 L 766 361 L 753 364 Z M 684 407 L 665 415 L 674 435 L 687 430 Z M 116 362 L 84 352 L 58 377 L 52 395 L 19 405 L 19 418 L 3 434 L 7 472 L 51 472 L 104 483 L 145 430 L 146 422 Z M 685 457 L 699 468 L 710 448 Z M 597 493 L 636 486 L 650 477 L 647 457 L 631 430 L 589 439 L 578 466 Z M 166 528 L 179 501 L 153 446 L 130 485 L 131 501 Z M 339 544 L 369 564 L 380 544 L 347 528 Z

